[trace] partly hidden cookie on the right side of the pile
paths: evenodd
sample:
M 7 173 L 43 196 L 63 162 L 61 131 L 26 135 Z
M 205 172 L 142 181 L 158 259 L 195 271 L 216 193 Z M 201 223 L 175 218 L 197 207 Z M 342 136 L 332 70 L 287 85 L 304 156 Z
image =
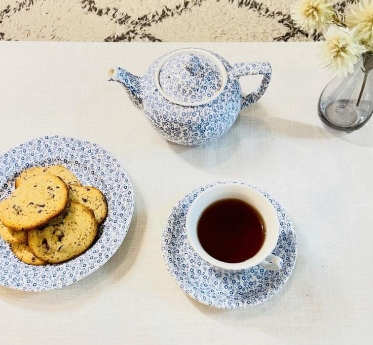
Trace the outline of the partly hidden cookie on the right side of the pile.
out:
M 101 224 L 108 214 L 108 204 L 105 195 L 99 189 L 91 186 L 68 184 L 68 188 L 69 200 L 90 208 L 95 215 L 97 223 Z

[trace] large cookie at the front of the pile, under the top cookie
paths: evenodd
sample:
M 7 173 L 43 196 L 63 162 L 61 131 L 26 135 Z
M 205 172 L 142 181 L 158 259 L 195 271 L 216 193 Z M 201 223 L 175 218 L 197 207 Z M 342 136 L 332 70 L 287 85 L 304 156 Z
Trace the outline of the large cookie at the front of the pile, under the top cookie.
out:
M 63 262 L 90 247 L 97 227 L 93 211 L 72 201 L 60 223 L 29 231 L 29 246 L 48 263 Z

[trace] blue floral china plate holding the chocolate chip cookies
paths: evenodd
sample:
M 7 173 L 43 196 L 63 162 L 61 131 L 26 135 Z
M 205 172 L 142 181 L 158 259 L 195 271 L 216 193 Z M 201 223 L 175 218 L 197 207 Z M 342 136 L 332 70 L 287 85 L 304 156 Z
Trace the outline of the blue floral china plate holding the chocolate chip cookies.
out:
M 78 281 L 104 265 L 123 242 L 133 214 L 132 183 L 116 158 L 98 144 L 51 136 L 20 144 L 0 156 L 0 201 L 14 190 L 14 181 L 33 166 L 60 164 L 83 185 L 100 189 L 108 215 L 99 236 L 83 254 L 60 264 L 32 266 L 18 260 L 0 238 L 0 285 L 24 291 L 54 290 Z

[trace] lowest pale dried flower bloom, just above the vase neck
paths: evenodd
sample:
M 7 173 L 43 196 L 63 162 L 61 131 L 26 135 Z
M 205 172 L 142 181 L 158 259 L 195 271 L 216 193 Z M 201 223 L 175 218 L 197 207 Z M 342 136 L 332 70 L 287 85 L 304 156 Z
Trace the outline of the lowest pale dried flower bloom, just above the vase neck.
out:
M 345 76 L 354 70 L 359 56 L 366 52 L 359 44 L 354 29 L 331 26 L 325 33 L 325 42 L 321 46 L 321 54 L 326 67 L 338 71 Z

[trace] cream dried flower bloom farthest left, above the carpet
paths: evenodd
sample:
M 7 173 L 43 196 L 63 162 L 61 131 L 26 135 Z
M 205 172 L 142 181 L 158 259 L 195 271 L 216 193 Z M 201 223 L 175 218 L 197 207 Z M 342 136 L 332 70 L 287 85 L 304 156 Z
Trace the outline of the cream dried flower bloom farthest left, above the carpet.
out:
M 328 0 L 299 0 L 292 6 L 291 13 L 298 26 L 309 31 L 321 31 L 335 15 Z

